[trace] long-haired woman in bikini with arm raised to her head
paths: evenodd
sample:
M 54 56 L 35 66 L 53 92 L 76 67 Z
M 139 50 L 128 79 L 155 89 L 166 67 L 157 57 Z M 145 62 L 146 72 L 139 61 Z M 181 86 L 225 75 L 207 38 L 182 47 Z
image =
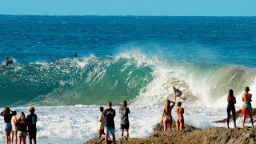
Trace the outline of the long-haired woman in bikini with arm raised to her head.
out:
M 172 102 L 172 106 L 170 106 L 170 100 L 166 101 L 166 106 L 164 106 L 163 110 L 162 110 L 162 123 L 163 123 L 163 130 L 166 131 L 167 129 L 167 125 L 169 125 L 170 127 L 170 131 L 171 131 L 171 126 L 173 123 L 173 118 L 171 117 L 171 110 L 173 109 L 175 102 Z

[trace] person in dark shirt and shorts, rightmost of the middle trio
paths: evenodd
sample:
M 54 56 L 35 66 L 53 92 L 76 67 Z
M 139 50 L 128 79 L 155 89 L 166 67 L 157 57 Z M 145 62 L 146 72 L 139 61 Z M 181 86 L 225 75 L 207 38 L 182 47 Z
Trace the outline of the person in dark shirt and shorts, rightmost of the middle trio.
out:
M 122 107 L 119 110 L 121 114 L 121 137 L 123 137 L 123 131 L 126 129 L 126 137 L 129 138 L 129 118 L 128 114 L 130 114 L 129 107 L 127 107 L 127 102 L 122 102 Z

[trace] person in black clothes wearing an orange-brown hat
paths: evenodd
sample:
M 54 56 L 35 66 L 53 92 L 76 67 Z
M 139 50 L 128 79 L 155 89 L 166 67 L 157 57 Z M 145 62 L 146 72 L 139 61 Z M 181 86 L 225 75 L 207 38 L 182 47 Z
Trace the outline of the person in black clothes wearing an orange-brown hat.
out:
M 37 142 L 37 126 L 36 123 L 38 121 L 38 116 L 34 114 L 34 106 L 30 106 L 30 114 L 26 116 L 26 122 L 28 124 L 28 132 L 30 137 L 30 144 L 32 144 L 32 139 L 34 140 L 34 144 Z

